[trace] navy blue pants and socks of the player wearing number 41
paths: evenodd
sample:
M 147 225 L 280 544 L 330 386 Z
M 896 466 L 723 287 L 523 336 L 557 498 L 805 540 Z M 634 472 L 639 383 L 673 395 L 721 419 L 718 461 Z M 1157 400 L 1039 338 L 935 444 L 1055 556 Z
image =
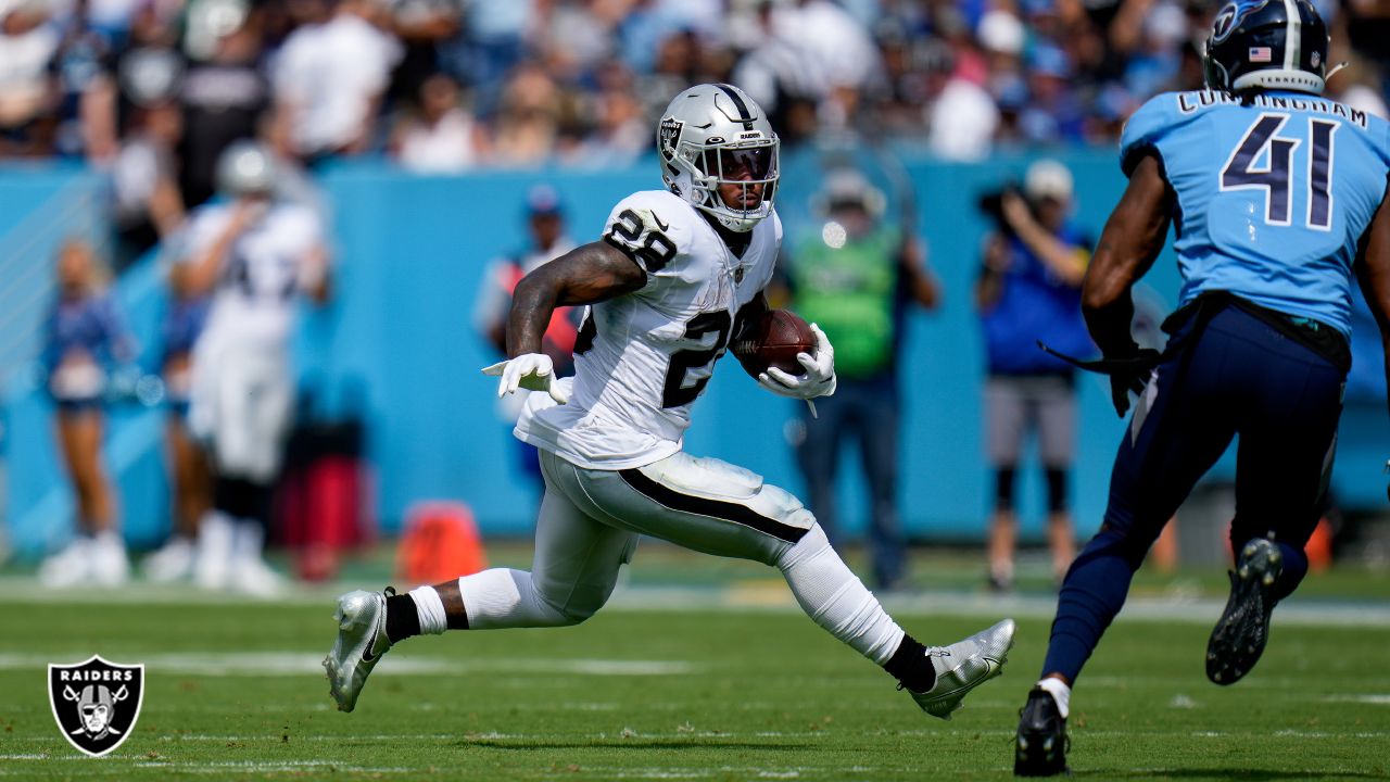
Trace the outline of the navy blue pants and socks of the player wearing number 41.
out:
M 1115 456 L 1105 522 L 1062 583 L 1042 673 L 1076 680 L 1150 545 L 1236 434 L 1232 548 L 1272 537 L 1283 552 L 1276 597 L 1291 593 L 1308 572 L 1302 548 L 1332 469 L 1344 380 L 1332 362 L 1236 308 L 1165 360 Z

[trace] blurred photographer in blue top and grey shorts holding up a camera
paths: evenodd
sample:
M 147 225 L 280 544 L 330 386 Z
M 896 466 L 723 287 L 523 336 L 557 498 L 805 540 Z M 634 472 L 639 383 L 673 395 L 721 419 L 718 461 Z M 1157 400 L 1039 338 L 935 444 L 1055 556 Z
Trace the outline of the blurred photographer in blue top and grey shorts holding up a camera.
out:
M 980 210 L 995 221 L 976 282 L 988 362 L 986 441 L 995 477 L 990 584 L 1008 591 L 1017 537 L 1013 484 L 1029 430 L 1037 433 L 1047 476 L 1048 544 L 1058 582 L 1076 551 L 1068 502 L 1076 449 L 1074 370 L 1040 351 L 1037 341 L 1073 356 L 1095 352 L 1081 320 L 1091 244 L 1069 221 L 1072 173 L 1055 160 L 1030 166 L 1022 192 L 1005 186 L 981 198 Z

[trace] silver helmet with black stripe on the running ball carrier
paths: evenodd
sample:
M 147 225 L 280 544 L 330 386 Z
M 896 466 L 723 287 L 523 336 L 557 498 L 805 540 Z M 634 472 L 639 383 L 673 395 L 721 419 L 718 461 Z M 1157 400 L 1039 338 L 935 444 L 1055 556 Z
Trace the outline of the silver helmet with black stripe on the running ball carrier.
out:
M 667 189 L 738 232 L 773 213 L 780 146 L 762 107 L 727 83 L 677 95 L 656 127 Z M 721 185 L 739 185 L 737 206 L 720 196 Z

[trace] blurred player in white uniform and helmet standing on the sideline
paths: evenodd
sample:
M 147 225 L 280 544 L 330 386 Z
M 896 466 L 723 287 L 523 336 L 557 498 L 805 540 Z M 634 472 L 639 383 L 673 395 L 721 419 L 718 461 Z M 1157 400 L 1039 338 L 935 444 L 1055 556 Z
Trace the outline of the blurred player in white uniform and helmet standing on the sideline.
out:
M 217 170 L 222 198 L 190 216 L 174 267 L 181 289 L 213 296 L 189 398 L 189 429 L 207 444 L 214 472 L 193 580 L 250 594 L 279 584 L 261 548 L 293 404 L 295 299 L 328 295 L 320 216 L 277 199 L 277 167 L 259 143 L 228 147 Z

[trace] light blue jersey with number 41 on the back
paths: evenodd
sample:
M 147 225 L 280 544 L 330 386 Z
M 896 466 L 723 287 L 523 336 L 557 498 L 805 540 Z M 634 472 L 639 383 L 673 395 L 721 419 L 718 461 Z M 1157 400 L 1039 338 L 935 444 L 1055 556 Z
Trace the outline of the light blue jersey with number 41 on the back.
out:
M 1229 291 L 1350 334 L 1351 266 L 1386 193 L 1387 125 L 1325 97 L 1165 93 L 1130 117 L 1120 164 L 1154 152 L 1177 195 L 1182 303 Z

